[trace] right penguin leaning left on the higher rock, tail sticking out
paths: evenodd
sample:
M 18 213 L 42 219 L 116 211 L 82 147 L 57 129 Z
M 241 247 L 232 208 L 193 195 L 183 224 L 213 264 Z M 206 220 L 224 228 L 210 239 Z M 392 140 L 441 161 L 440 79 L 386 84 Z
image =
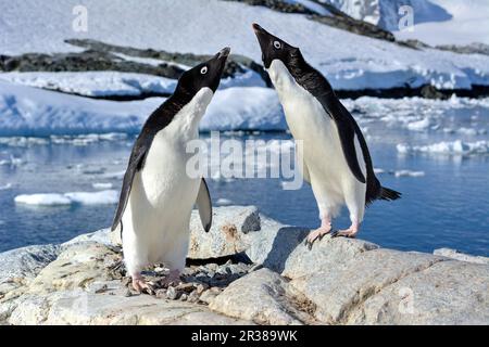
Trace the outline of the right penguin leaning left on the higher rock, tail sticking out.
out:
M 365 206 L 375 200 L 392 201 L 399 192 L 384 188 L 375 177 L 362 131 L 333 91 L 328 80 L 292 47 L 253 24 L 265 69 L 278 93 L 294 140 L 302 140 L 301 171 L 311 183 L 319 210 L 321 227 L 305 243 L 333 231 L 331 220 L 342 206 L 351 227 L 334 235 L 354 237 Z

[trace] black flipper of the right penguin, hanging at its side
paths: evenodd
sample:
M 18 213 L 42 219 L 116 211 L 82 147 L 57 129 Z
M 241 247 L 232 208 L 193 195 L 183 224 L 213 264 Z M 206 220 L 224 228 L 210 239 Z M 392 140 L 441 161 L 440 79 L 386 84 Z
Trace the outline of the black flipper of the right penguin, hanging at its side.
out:
M 335 120 L 338 128 L 341 149 L 343 151 L 344 158 L 347 159 L 348 167 L 360 182 L 366 183 L 365 176 L 360 168 L 359 158 L 356 156 L 355 129 L 358 128 L 358 125 L 355 124 L 355 119 L 335 95 L 324 98 L 324 102 L 322 101 L 322 104 L 329 116 Z M 361 136 L 362 134 L 360 133 L 359 138 Z

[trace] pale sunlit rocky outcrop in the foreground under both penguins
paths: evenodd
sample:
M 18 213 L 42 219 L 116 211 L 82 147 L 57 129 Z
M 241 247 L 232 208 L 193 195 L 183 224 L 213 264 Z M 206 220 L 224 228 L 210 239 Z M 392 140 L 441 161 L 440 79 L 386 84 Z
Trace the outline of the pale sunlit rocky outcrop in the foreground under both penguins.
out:
M 214 210 L 210 233 L 192 216 L 184 283 L 150 294 L 127 286 L 109 230 L 59 246 L 0 255 L 4 324 L 487 324 L 489 259 L 436 255 L 325 236 L 280 224 L 254 207 Z M 196 245 L 198 245 L 196 247 Z M 192 248 L 192 246 L 190 247 Z M 460 259 L 460 260 L 456 260 Z M 461 261 L 463 260 L 463 261 Z

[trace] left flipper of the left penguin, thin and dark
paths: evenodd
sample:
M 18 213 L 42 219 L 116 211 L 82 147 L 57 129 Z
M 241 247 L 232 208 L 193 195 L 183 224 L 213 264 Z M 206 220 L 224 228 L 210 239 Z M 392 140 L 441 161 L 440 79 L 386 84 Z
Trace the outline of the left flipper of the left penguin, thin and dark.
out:
M 114 231 L 120 223 L 122 224 L 122 217 L 124 215 L 124 210 L 126 209 L 127 201 L 129 200 L 130 190 L 133 188 L 133 180 L 136 172 L 142 168 L 146 153 L 147 147 L 143 145 L 138 145 L 138 143 L 135 145 L 133 153 L 130 153 L 129 164 L 127 165 L 126 174 L 124 174 L 121 195 L 118 197 L 118 205 L 115 211 L 114 220 L 112 222 L 111 231 Z M 123 227 L 121 226 L 121 233 L 122 228 Z

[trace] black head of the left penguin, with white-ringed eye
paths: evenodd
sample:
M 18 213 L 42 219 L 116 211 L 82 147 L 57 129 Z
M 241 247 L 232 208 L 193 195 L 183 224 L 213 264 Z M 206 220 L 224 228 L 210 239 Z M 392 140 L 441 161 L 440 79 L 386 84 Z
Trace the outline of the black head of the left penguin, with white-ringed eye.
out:
M 229 52 L 230 49 L 226 47 L 209 61 L 186 70 L 178 79 L 175 93 L 196 95 L 203 88 L 209 88 L 212 92 L 215 92 L 220 86 L 221 75 Z

